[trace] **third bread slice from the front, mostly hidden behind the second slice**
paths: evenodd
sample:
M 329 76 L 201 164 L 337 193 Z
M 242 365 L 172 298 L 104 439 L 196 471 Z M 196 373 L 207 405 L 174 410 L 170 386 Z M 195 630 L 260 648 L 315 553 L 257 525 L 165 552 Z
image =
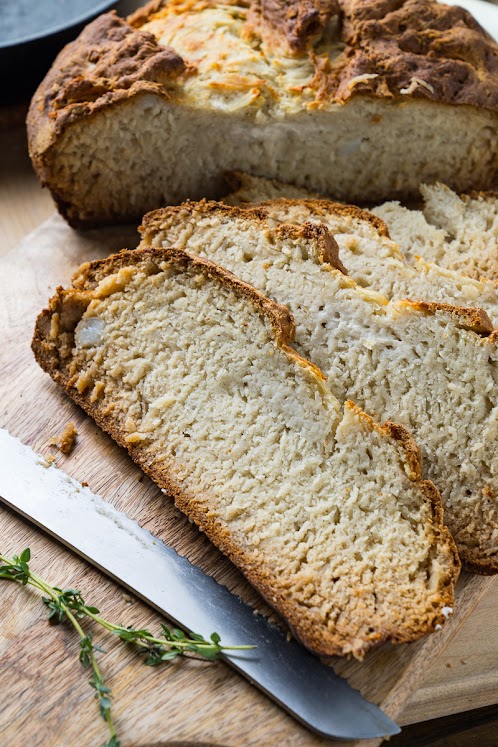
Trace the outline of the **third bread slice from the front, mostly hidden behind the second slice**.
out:
M 256 203 L 278 222 L 302 225 L 312 221 L 327 226 L 339 245 L 339 256 L 348 274 L 358 285 L 378 291 L 389 300 L 412 298 L 457 306 L 479 306 L 498 327 L 498 283 L 485 278 L 473 279 L 458 270 L 448 269 L 454 253 L 443 260 L 444 247 L 439 253 L 434 251 L 439 242 L 443 242 L 445 234 L 427 224 L 419 211 L 391 202 L 370 212 L 325 199 L 310 199 L 304 190 L 274 180 L 240 173 L 229 175 L 228 179 L 235 191 L 224 198 L 226 204 L 247 206 Z M 424 193 L 432 193 L 430 188 L 422 189 Z M 440 190 L 445 194 L 445 188 Z M 294 199 L 288 199 L 287 195 L 294 196 Z M 456 195 L 454 197 L 459 199 Z M 482 202 L 482 198 L 480 200 Z M 489 197 L 488 203 L 490 201 Z M 423 230 L 420 230 L 421 223 L 425 224 Z M 465 226 L 462 222 L 462 237 L 466 231 L 468 233 Z M 494 230 L 498 230 L 498 220 Z M 473 257 L 473 264 L 483 260 L 489 266 L 486 254 L 480 251 L 485 241 L 489 248 L 488 257 L 493 255 L 494 241 L 494 255 L 498 262 L 493 227 L 487 236 L 483 234 L 479 245 L 462 238 L 461 256 Z

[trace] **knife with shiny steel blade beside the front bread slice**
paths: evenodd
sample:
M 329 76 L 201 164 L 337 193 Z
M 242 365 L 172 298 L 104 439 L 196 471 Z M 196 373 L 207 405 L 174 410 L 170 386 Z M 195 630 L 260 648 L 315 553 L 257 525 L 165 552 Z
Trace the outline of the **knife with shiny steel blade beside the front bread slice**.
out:
M 400 732 L 251 606 L 4 429 L 0 498 L 176 625 L 204 637 L 216 631 L 224 645 L 253 644 L 222 658 L 313 731 L 340 739 Z

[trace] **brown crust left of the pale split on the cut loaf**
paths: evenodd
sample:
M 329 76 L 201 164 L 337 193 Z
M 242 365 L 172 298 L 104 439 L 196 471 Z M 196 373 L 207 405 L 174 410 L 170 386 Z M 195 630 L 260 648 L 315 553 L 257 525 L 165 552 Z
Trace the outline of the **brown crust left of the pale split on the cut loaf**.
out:
M 173 49 L 115 11 L 90 23 L 64 47 L 31 101 L 28 145 L 42 183 L 50 178 L 50 148 L 72 122 L 143 91 L 167 96 L 168 84 L 186 67 Z M 64 214 L 63 198 L 54 196 Z

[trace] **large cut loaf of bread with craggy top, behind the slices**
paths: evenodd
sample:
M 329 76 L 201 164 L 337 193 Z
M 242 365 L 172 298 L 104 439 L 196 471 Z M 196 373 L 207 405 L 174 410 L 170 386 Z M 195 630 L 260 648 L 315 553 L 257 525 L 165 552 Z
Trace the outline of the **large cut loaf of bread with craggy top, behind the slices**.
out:
M 31 157 L 73 225 L 217 197 L 226 169 L 361 203 L 489 189 L 497 52 L 435 0 L 153 0 L 59 55 Z

